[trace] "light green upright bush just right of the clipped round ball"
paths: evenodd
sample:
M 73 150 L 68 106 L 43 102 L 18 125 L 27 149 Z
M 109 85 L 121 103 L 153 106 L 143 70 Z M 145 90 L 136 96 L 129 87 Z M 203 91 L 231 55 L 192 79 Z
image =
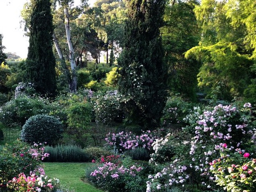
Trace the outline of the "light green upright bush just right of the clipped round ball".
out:
M 84 146 L 90 136 L 89 123 L 93 119 L 93 106 L 90 102 L 93 91 L 80 89 L 78 93 L 63 94 L 52 103 L 51 115 L 58 116 L 65 125 L 65 134 L 74 136 L 75 141 Z

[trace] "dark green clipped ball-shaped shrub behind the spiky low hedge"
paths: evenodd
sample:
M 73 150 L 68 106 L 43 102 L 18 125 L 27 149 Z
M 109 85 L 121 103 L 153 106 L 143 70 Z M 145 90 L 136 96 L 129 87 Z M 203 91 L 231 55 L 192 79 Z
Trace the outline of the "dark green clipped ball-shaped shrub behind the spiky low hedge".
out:
M 21 140 L 28 143 L 52 145 L 62 138 L 63 124 L 54 116 L 38 114 L 31 116 L 22 127 Z

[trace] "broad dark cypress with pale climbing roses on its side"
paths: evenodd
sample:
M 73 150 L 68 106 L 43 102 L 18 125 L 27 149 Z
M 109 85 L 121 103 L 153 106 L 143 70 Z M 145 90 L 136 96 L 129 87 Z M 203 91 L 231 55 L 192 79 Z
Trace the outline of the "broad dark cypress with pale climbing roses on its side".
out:
M 119 90 L 126 95 L 129 119 L 144 127 L 158 125 L 166 101 L 167 69 L 159 28 L 165 0 L 129 0 Z

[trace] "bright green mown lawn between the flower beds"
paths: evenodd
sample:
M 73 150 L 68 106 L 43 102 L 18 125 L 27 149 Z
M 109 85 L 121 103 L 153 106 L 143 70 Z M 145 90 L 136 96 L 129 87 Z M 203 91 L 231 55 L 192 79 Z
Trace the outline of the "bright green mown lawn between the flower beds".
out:
M 43 163 L 46 175 L 58 178 L 62 186 L 74 192 L 103 192 L 82 181 L 91 163 Z

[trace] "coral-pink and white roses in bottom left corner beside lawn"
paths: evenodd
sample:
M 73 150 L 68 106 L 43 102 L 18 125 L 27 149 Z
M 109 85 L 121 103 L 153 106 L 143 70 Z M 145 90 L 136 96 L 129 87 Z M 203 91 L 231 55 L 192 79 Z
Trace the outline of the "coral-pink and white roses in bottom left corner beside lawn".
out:
M 17 192 L 55 192 L 59 188 L 59 179 L 50 179 L 43 168 L 30 172 L 29 176 L 20 173 L 7 183 L 7 188 Z

